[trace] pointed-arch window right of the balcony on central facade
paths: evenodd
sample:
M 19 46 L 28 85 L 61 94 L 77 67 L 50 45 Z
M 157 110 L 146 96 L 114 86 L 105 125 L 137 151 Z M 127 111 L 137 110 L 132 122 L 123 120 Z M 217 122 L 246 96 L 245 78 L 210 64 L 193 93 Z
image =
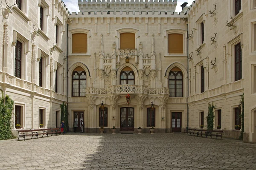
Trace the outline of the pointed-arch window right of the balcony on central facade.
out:
M 183 97 L 183 75 L 180 68 L 172 68 L 169 73 L 170 97 Z

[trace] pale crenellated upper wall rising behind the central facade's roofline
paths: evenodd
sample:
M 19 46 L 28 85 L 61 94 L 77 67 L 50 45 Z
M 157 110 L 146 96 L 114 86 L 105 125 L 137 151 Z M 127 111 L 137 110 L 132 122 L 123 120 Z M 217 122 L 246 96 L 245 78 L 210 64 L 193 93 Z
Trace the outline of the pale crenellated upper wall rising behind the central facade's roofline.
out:
M 139 1 L 135 0 L 129 2 L 124 1 L 110 1 L 110 0 L 78 0 L 79 10 L 84 11 L 175 11 L 177 0 L 164 0 L 164 1 Z

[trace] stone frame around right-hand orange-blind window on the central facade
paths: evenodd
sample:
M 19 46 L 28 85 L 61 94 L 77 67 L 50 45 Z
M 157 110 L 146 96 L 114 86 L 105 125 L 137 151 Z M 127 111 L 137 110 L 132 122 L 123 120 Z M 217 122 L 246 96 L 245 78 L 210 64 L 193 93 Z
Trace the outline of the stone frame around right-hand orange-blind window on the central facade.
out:
M 177 28 L 177 29 L 169 29 L 169 30 L 166 30 L 164 31 L 164 37 L 165 37 L 165 41 L 164 41 L 164 47 L 165 47 L 165 50 L 164 50 L 164 55 L 165 57 L 174 57 L 174 56 L 180 56 L 180 57 L 187 57 L 187 41 L 186 41 L 186 38 L 187 38 L 187 30 L 185 29 L 182 29 L 182 28 Z M 168 51 L 168 35 L 169 34 L 182 34 L 183 35 L 183 54 L 172 54 L 172 53 L 169 53 Z

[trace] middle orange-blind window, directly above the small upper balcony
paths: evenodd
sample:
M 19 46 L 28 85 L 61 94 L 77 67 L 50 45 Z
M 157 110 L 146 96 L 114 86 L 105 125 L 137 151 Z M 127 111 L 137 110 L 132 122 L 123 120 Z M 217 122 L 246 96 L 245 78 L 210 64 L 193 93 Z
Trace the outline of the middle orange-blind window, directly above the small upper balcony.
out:
M 120 49 L 135 49 L 135 34 L 122 33 L 120 34 Z

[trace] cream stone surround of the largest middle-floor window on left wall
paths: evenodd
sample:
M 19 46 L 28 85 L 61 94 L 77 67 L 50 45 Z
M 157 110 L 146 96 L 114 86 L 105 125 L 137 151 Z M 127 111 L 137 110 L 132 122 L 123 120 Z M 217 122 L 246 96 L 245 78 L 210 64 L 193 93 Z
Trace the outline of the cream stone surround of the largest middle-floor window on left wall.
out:
M 27 40 L 23 35 L 19 34 L 17 31 L 13 31 L 13 37 L 12 37 L 12 45 L 13 45 L 13 51 L 15 51 L 15 46 L 17 43 L 17 40 L 22 43 L 22 54 L 21 54 L 21 79 L 27 80 L 27 55 L 29 53 L 29 40 Z M 15 73 L 15 52 L 13 53 L 13 75 Z M 16 77 L 17 79 L 20 79 Z

